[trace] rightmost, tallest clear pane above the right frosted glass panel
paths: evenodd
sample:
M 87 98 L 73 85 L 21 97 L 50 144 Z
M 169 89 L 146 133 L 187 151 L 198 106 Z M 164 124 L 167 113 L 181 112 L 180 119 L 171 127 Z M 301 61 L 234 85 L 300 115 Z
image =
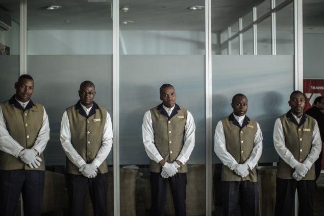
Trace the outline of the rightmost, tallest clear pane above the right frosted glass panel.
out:
M 293 55 L 293 4 L 276 13 L 277 55 Z

